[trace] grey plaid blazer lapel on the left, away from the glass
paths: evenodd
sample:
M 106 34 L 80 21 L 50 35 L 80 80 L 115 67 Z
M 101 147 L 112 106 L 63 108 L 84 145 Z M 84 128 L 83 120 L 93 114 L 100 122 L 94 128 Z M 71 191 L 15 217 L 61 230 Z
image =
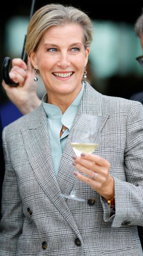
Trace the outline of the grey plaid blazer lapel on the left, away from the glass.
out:
M 51 202 L 81 238 L 65 199 L 59 195 L 61 191 L 53 169 L 46 114 L 42 106 L 35 110 L 30 124 L 29 129 L 23 128 L 21 131 L 35 177 Z

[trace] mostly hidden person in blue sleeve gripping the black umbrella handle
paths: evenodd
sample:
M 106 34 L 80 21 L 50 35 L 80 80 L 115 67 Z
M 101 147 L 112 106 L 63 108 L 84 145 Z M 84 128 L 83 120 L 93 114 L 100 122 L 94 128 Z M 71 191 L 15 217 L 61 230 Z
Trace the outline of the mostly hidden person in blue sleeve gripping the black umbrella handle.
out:
M 9 76 L 18 83 L 16 87 L 10 87 L 2 82 L 4 90 L 10 101 L 15 104 L 6 103 L 0 106 L 0 217 L 1 217 L 1 189 L 4 178 L 4 157 L 2 149 L 1 134 L 5 125 L 16 120 L 18 117 L 33 111 L 41 103 L 37 96 L 37 83 L 34 82 L 34 73 L 30 66 L 30 59 L 28 65 L 25 64 L 21 58 L 15 58 L 12 61 L 13 68 Z M 20 111 L 20 112 L 19 112 Z

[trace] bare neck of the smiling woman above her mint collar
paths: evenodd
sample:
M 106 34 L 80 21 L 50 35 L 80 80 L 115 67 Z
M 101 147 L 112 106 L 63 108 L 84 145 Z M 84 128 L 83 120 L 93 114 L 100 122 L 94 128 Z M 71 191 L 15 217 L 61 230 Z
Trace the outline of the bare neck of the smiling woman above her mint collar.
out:
M 82 88 L 82 87 L 81 87 Z M 81 88 L 77 91 L 74 91 L 72 94 L 52 94 L 49 91 L 48 94 L 48 102 L 60 108 L 62 113 L 64 113 L 67 108 L 71 105 L 71 103 L 76 99 L 76 96 L 79 94 Z

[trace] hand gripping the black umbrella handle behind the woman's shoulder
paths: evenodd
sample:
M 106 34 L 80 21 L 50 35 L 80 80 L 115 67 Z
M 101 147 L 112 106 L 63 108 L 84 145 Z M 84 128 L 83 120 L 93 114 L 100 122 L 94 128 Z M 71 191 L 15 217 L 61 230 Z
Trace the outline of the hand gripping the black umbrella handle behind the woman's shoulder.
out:
M 2 85 L 8 98 L 17 106 L 22 114 L 27 114 L 41 103 L 36 93 L 37 83 L 34 81 L 30 58 L 28 58 L 27 65 L 21 58 L 14 58 L 12 66 L 9 76 L 18 85 L 9 86 L 4 80 Z

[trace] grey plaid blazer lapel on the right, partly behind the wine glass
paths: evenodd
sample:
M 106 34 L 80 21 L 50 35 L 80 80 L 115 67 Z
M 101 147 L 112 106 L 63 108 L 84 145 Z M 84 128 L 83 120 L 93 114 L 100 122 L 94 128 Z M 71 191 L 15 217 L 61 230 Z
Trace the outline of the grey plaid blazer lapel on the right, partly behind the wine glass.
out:
M 80 113 L 100 117 L 101 130 L 103 129 L 105 122 L 109 117 L 109 115 L 102 115 L 102 95 L 98 93 L 96 90 L 94 90 L 88 83 L 86 83 L 85 85 L 84 94 L 78 112 L 76 114 L 75 120 L 71 127 L 70 133 L 68 135 L 67 143 L 64 148 L 59 166 L 57 181 L 61 192 L 64 194 L 69 194 L 71 192 L 71 189 L 75 181 L 75 175 L 73 175 L 75 168 L 74 166 L 72 166 L 72 156 L 75 155 L 75 152 L 71 147 L 71 133 L 73 127 L 75 126 L 76 120 L 80 116 Z M 96 149 L 96 154 L 100 154 L 98 148 Z

